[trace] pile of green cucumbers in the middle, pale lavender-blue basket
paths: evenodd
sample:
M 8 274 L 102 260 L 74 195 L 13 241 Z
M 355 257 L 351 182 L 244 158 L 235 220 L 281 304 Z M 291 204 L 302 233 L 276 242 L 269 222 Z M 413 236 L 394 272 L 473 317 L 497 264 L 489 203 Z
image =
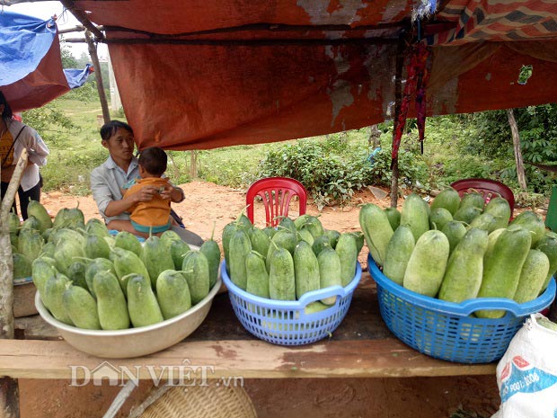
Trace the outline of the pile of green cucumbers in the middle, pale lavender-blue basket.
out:
M 245 215 L 226 225 L 223 250 L 230 280 L 261 298 L 296 300 L 306 292 L 339 285 L 354 278 L 361 232 L 325 230 L 319 218 L 281 218 L 279 226 L 255 227 Z M 336 297 L 313 306 L 325 309 Z

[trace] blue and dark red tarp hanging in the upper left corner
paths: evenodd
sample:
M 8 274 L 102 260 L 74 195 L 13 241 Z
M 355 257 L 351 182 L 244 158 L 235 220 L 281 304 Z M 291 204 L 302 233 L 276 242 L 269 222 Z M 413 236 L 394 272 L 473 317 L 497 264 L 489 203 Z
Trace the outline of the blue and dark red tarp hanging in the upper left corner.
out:
M 83 85 L 91 72 L 63 69 L 57 26 L 20 13 L 0 13 L 0 90 L 13 111 L 40 107 Z

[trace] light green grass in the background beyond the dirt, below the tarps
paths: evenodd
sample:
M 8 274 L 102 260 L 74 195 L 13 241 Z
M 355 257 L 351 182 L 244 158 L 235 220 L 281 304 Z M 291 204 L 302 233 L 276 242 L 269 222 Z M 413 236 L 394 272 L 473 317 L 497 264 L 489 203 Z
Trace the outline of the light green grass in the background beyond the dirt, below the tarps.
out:
M 87 195 L 90 191 L 89 175 L 94 167 L 107 158 L 107 150 L 101 146 L 100 126 L 97 115 L 102 114 L 98 100 L 84 102 L 61 97 L 53 106 L 71 120 L 72 128 L 62 129 L 50 124 L 40 134 L 50 149 L 49 164 L 41 168 L 44 191 L 61 190 L 75 195 Z M 121 111 L 111 114 L 113 119 L 125 120 Z M 352 146 L 367 147 L 367 129 L 349 134 L 332 134 L 340 142 Z M 323 137 L 324 138 L 324 137 Z M 271 149 L 282 147 L 286 142 L 253 146 L 222 147 L 201 150 L 198 153 L 198 177 L 207 182 L 242 188 L 257 179 L 259 165 Z M 292 141 L 290 141 L 292 142 Z M 334 142 L 334 141 L 333 141 Z M 190 152 L 169 151 L 167 175 L 172 182 L 190 182 Z

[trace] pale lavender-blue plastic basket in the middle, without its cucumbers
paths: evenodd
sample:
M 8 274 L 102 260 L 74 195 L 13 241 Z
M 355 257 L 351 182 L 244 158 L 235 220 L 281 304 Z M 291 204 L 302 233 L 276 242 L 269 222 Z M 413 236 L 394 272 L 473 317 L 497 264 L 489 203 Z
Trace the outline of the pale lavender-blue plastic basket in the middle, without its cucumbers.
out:
M 362 276 L 359 262 L 356 274 L 349 284 L 305 293 L 296 301 L 260 298 L 238 288 L 226 273 L 226 263 L 220 266 L 221 275 L 228 288 L 234 314 L 243 327 L 261 340 L 279 345 L 302 345 L 330 336 L 348 312 L 354 289 Z M 334 305 L 313 314 L 305 314 L 305 307 L 323 298 L 337 296 Z

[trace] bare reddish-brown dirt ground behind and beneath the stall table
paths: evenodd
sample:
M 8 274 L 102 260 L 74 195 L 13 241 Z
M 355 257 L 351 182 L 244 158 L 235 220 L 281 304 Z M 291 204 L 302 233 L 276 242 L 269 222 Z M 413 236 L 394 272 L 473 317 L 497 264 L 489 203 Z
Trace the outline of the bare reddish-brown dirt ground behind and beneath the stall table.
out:
M 245 206 L 245 191 L 208 182 L 190 182 L 181 187 L 186 200 L 174 209 L 184 218 L 185 226 L 204 239 L 211 236 L 215 226 L 215 239 L 220 243 L 223 227 Z M 388 196 L 377 200 L 371 191 L 365 190 L 356 194 L 349 207 L 325 208 L 319 212 L 309 204 L 307 212 L 321 215 L 325 228 L 355 231 L 360 229 L 357 205 L 367 202 L 382 207 L 390 203 Z M 90 196 L 76 198 L 60 192 L 43 193 L 42 203 L 52 216 L 58 209 L 72 208 L 79 203 L 85 219 L 100 218 Z M 255 212 L 261 214 L 262 208 L 256 207 Z M 256 223 L 261 226 L 260 217 L 256 216 Z M 366 257 L 364 250 L 359 256 L 363 266 L 367 264 Z M 22 418 L 102 417 L 119 391 L 119 387 L 68 387 L 68 383 L 57 379 L 20 379 Z M 260 418 L 448 418 L 461 407 L 479 413 L 469 416 L 487 417 L 497 410 L 500 402 L 495 376 L 246 379 L 244 387 Z M 117 417 L 128 416 L 131 405 L 139 403 L 149 388 L 140 386 Z

